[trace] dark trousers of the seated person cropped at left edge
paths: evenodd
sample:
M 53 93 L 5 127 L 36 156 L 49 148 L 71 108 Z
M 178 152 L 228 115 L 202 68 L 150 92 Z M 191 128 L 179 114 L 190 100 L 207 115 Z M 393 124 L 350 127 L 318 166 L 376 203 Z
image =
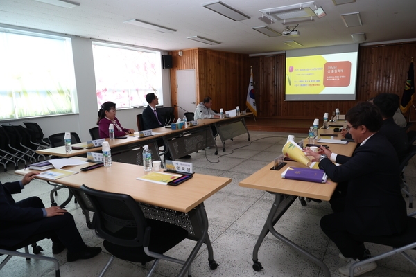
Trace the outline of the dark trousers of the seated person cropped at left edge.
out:
M 15 205 L 21 208 L 44 208 L 44 204 L 39 197 L 29 197 L 16 202 Z M 29 229 L 28 226 L 31 224 L 33 223 L 28 222 L 27 224 L 19 224 L 13 228 L 23 230 Z M 38 225 L 37 229 L 28 235 L 36 235 L 38 233 L 52 231 L 55 233 L 55 235 L 51 237 L 51 240 L 53 242 L 57 242 L 57 240 L 59 240 L 62 242 L 62 244 L 64 244 L 65 247 L 67 247 L 68 251 L 79 252 L 83 251 L 85 248 L 83 238 L 81 238 L 81 235 L 76 228 L 75 221 L 73 220 L 73 216 L 70 213 L 64 213 L 64 215 L 55 215 L 53 217 L 44 217 L 42 220 L 40 220 L 40 224 L 36 225 Z M 19 232 L 17 231 L 17 233 Z M 22 240 L 24 239 L 25 238 Z

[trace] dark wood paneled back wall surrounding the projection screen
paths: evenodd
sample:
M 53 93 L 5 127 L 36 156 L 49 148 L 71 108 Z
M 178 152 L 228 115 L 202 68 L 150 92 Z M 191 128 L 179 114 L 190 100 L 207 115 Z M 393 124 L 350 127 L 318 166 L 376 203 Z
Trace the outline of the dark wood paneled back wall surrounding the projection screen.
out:
M 360 46 L 356 101 L 284 101 L 284 54 L 272 57 L 250 57 L 253 68 L 257 115 L 263 118 L 322 118 L 325 112 L 339 108 L 342 114 L 378 93 L 396 93 L 401 98 L 416 42 Z M 408 114 L 405 115 L 408 117 Z M 412 120 L 416 112 L 412 110 Z

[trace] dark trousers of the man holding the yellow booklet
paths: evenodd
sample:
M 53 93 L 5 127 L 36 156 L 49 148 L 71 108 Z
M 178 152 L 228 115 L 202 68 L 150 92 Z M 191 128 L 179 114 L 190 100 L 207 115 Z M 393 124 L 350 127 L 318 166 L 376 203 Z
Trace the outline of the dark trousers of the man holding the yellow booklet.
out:
M 344 213 L 325 215 L 320 220 L 322 231 L 335 242 L 343 256 L 346 258 L 361 259 L 364 256 L 365 246 L 362 241 L 354 240 L 345 226 Z

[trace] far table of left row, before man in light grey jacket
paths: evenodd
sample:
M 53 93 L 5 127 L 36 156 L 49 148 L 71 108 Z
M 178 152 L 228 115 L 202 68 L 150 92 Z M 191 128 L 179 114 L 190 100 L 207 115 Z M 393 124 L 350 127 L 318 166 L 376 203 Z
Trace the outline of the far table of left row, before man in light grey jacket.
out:
M 245 116 L 250 116 L 252 113 L 241 114 L 239 116 L 231 116 L 227 118 L 207 118 L 198 119 L 198 123 L 205 125 L 212 125 L 216 127 L 218 135 L 220 136 L 221 143 L 223 143 L 223 152 L 225 152 L 225 141 L 227 139 L 233 139 L 241 134 L 248 135 L 248 141 L 250 141 L 250 133 L 245 125 Z

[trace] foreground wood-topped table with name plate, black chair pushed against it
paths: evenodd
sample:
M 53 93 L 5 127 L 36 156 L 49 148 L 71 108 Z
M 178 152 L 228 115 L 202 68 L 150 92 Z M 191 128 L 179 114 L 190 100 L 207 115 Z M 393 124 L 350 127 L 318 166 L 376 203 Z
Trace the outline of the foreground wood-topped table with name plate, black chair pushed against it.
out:
M 77 159 L 83 158 L 77 157 Z M 207 245 L 209 265 L 215 263 L 208 235 L 209 222 L 204 201 L 229 184 L 230 178 L 195 173 L 193 178 L 179 186 L 166 186 L 137 180 L 137 177 L 145 175 L 143 166 L 115 162 L 110 167 L 95 168 L 86 172 L 80 171 L 80 168 L 89 165 L 94 165 L 94 163 L 65 167 L 65 170 L 78 173 L 54 180 L 73 191 L 83 211 L 94 211 L 89 201 L 86 201 L 87 197 L 80 190 L 80 186 L 83 184 L 96 190 L 130 195 L 139 203 L 146 217 L 160 220 L 162 213 L 163 217 L 173 217 L 172 220 L 175 224 L 184 219 L 191 221 L 191 226 L 185 224 L 186 226 L 182 227 L 187 229 L 191 240 L 196 240 L 196 245 L 178 276 L 187 274 L 189 266 L 203 243 Z M 22 169 L 15 171 L 15 173 L 25 175 L 28 171 Z M 50 181 L 50 179 L 44 180 Z M 157 215 L 153 215 L 151 211 L 156 211 Z

